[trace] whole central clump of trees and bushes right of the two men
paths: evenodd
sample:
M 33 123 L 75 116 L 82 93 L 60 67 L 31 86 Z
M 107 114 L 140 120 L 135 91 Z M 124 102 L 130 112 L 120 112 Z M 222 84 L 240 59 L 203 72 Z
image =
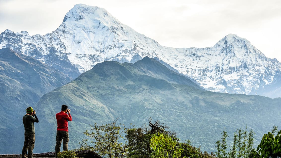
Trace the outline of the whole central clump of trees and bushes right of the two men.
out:
M 96 142 L 91 143 L 96 145 L 89 146 L 88 139 L 83 139 L 77 150 L 93 150 L 109 158 L 216 158 L 213 153 L 201 152 L 200 147 L 192 146 L 190 141 L 179 143 L 176 133 L 167 131 L 169 127 L 158 120 L 152 123 L 150 118 L 149 126 L 142 128 L 125 128 L 124 125 L 116 125 L 116 121 L 101 126 L 96 123 L 91 125 L 92 132 L 87 130 L 84 134 L 94 138 Z M 126 139 L 122 136 L 123 132 L 127 134 Z M 119 143 L 120 139 L 125 143 Z M 119 154 L 116 154 L 118 151 Z

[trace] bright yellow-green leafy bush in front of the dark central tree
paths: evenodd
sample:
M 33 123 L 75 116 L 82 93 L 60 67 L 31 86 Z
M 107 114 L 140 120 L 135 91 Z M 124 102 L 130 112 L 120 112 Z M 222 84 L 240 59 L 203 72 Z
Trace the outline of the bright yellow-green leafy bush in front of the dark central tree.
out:
M 163 133 L 153 134 L 150 147 L 153 151 L 152 158 L 180 158 L 183 152 L 178 141 Z

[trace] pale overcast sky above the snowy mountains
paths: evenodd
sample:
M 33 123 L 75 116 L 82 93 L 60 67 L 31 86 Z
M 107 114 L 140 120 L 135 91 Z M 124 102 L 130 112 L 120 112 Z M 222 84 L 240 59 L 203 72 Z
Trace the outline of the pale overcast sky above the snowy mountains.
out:
M 280 0 L 0 0 L 0 32 L 45 35 L 80 3 L 105 8 L 163 46 L 211 47 L 232 33 L 281 61 Z

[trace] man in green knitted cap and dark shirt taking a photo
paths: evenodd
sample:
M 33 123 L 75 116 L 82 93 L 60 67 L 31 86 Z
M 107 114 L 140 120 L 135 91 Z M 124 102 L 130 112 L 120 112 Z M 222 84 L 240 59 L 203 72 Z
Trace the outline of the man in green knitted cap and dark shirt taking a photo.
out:
M 22 122 L 24 125 L 24 145 L 22 148 L 22 158 L 26 158 L 28 151 L 28 158 L 32 158 L 32 150 L 35 143 L 35 129 L 34 122 L 39 122 L 37 116 L 35 115 L 35 110 L 32 107 L 28 107 L 26 110 L 26 115 L 22 117 Z M 33 116 L 33 117 L 32 117 Z

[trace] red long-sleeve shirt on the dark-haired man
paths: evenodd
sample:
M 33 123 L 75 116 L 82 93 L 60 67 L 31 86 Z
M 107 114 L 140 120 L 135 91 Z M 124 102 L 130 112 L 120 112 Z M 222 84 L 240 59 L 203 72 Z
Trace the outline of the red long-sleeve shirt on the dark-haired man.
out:
M 70 113 L 68 115 L 63 111 L 56 114 L 56 122 L 58 123 L 57 130 L 63 130 L 68 132 L 68 121 L 72 121 Z

